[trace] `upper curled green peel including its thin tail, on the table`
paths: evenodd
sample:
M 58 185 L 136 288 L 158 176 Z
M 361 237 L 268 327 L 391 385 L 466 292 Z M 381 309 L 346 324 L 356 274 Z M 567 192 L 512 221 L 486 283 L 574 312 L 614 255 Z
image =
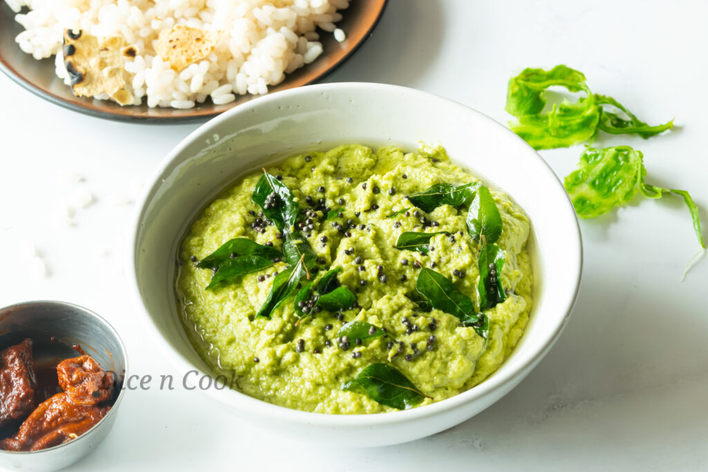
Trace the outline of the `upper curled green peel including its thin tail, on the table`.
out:
M 561 86 L 571 92 L 583 92 L 585 96 L 575 103 L 563 100 L 543 113 L 547 103 L 546 89 Z M 605 110 L 603 105 L 626 113 L 629 120 L 617 113 Z M 582 72 L 559 65 L 549 71 L 524 69 L 509 80 L 506 111 L 518 122 L 510 124 L 513 132 L 522 137 L 534 149 L 552 149 L 587 142 L 595 136 L 598 128 L 612 134 L 639 134 L 650 137 L 666 131 L 673 122 L 651 127 L 607 96 L 595 95 L 586 84 Z

